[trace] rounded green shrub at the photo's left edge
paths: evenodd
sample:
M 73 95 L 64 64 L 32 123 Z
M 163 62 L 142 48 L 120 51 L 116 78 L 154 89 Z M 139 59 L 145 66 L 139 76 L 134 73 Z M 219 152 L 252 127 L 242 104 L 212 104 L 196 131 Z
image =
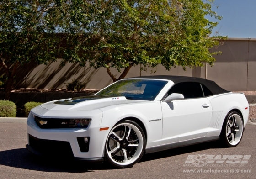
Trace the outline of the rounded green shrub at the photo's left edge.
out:
M 14 102 L 0 100 L 0 117 L 16 117 L 17 109 Z

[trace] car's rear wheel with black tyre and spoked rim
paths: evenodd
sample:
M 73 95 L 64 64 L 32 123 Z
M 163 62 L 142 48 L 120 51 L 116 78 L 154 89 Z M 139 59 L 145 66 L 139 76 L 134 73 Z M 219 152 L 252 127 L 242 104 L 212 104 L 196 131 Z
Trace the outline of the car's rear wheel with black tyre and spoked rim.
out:
M 232 111 L 226 116 L 222 126 L 221 139 L 229 147 L 235 147 L 242 139 L 244 125 L 239 113 Z

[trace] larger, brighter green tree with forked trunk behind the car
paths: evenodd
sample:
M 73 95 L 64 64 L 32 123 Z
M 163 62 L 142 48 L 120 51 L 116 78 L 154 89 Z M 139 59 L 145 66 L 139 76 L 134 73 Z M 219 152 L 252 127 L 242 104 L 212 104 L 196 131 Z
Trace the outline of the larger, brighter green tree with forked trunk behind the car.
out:
M 220 52 L 209 49 L 224 37 L 208 36 L 217 22 L 205 16 L 221 19 L 212 5 L 213 0 L 70 1 L 72 13 L 65 15 L 73 18 L 65 29 L 73 38 L 67 39 L 64 60 L 104 67 L 114 82 L 139 64 L 144 70 L 159 64 L 167 70 L 213 65 L 213 55 Z M 123 70 L 118 79 L 111 67 Z

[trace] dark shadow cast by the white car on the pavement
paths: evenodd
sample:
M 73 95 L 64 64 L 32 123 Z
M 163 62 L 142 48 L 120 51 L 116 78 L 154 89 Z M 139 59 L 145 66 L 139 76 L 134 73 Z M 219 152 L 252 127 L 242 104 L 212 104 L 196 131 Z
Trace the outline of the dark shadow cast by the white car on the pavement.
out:
M 206 150 L 209 148 L 222 148 L 222 146 L 219 144 L 219 141 L 213 141 L 187 147 L 179 147 L 161 152 L 145 154 L 140 162 Z M 103 164 L 86 163 L 84 161 L 72 159 L 36 156 L 27 151 L 26 148 L 0 151 L 0 165 L 36 171 L 68 173 L 86 173 L 93 172 L 94 170 L 116 169 L 107 162 L 104 162 Z

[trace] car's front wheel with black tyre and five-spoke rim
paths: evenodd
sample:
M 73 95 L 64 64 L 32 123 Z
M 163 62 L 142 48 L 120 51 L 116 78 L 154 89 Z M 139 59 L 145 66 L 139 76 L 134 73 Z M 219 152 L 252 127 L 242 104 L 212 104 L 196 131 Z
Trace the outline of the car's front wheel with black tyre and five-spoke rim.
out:
M 141 127 L 134 121 L 122 121 L 108 134 L 105 156 L 117 168 L 131 167 L 142 158 L 145 145 Z

